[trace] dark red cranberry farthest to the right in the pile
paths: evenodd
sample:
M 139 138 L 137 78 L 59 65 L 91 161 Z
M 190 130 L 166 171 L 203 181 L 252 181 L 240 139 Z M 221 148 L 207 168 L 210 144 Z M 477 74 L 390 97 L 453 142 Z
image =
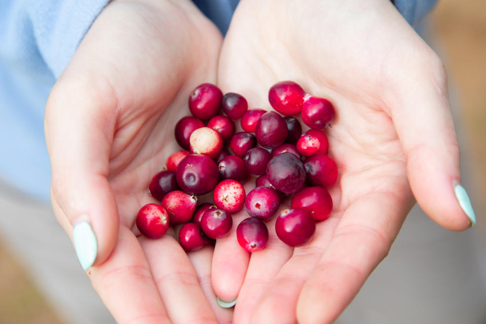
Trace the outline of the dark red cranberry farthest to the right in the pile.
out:
M 338 178 L 336 162 L 325 154 L 315 154 L 304 161 L 309 186 L 332 187 Z

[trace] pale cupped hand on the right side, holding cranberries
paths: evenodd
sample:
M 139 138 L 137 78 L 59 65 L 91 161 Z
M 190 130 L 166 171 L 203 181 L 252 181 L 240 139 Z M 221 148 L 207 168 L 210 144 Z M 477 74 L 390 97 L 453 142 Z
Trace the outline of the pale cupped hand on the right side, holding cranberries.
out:
M 234 231 L 217 242 L 213 288 L 238 297 L 236 324 L 336 319 L 387 255 L 414 196 L 445 228 L 471 224 L 453 189 L 459 147 L 446 74 L 390 1 L 242 0 L 218 85 L 270 109 L 268 89 L 281 80 L 335 106 L 326 130 L 339 172 L 334 210 L 296 249 L 276 238 L 275 218 L 268 247 L 251 257 L 231 243 Z

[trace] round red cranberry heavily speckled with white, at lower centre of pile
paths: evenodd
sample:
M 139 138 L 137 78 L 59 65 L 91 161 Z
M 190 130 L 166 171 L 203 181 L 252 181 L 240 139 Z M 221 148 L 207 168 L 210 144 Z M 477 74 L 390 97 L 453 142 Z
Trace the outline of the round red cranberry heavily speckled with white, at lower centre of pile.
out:
M 214 188 L 213 198 L 219 209 L 236 213 L 245 205 L 245 188 L 236 180 L 226 179 Z

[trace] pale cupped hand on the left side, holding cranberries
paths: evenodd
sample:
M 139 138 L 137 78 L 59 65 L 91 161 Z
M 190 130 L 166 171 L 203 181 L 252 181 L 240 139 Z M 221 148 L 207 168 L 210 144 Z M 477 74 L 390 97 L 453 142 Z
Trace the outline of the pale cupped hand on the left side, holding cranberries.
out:
M 73 225 L 91 225 L 98 251 L 87 273 L 120 323 L 230 321 L 206 279 L 212 248 L 188 257 L 173 232 L 151 240 L 134 227 L 140 207 L 155 202 L 151 177 L 178 149 L 174 125 L 188 94 L 215 82 L 220 46 L 189 1 L 115 1 L 48 100 L 54 211 L 71 239 Z

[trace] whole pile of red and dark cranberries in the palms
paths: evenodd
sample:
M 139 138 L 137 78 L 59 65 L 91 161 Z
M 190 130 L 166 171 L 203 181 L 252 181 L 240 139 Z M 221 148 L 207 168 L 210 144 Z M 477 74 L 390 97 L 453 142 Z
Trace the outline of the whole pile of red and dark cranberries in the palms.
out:
M 277 216 L 275 232 L 291 247 L 312 238 L 315 222 L 327 219 L 333 209 L 327 189 L 336 183 L 338 173 L 327 155 L 329 143 L 322 129 L 334 119 L 334 108 L 291 81 L 271 87 L 268 100 L 285 116 L 249 110 L 244 97 L 223 96 L 212 84 L 194 89 L 189 96 L 192 116 L 181 118 L 175 127 L 183 150 L 172 153 L 165 170 L 149 184 L 160 205 L 145 205 L 137 215 L 143 235 L 159 238 L 169 225 L 182 225 L 179 243 L 186 251 L 195 251 L 227 236 L 233 226 L 231 214 L 245 208 L 250 217 L 238 224 L 236 237 L 243 249 L 255 252 L 267 244 L 265 222 L 274 217 L 283 199 L 293 195 L 291 208 Z M 304 135 L 293 117 L 297 114 L 310 128 Z M 236 119 L 241 132 L 236 132 Z M 256 187 L 246 194 L 242 183 L 251 176 L 258 176 Z M 211 191 L 214 204 L 197 205 L 197 196 Z

